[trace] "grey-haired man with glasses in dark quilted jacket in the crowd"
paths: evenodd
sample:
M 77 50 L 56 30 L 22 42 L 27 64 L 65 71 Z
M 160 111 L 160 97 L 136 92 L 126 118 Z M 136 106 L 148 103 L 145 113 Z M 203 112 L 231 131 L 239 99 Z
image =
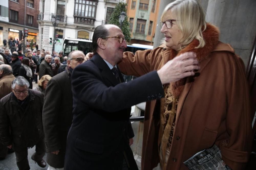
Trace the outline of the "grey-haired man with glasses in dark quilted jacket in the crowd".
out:
M 51 68 L 51 55 L 47 54 L 45 56 L 45 59 L 40 63 L 39 65 L 39 79 L 41 79 L 41 77 L 43 75 L 50 75 L 51 77 L 53 77 L 53 72 L 52 72 L 52 68 Z

